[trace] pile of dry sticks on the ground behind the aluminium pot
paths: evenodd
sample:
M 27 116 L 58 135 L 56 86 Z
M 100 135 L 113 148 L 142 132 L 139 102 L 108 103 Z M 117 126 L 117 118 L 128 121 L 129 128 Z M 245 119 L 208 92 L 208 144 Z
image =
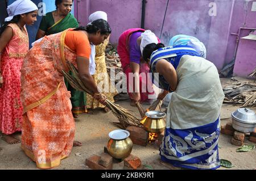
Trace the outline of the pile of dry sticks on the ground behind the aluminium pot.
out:
M 256 106 L 256 84 L 253 82 L 235 82 L 224 89 L 224 103 L 237 104 L 241 107 Z

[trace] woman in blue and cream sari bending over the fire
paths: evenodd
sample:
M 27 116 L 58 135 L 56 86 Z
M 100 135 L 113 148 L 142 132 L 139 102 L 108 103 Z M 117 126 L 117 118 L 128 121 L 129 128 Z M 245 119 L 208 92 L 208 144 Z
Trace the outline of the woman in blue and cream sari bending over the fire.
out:
M 186 169 L 217 169 L 224 99 L 217 68 L 203 58 L 204 44 L 195 37 L 179 35 L 170 43 L 173 47 L 153 43 L 143 50 L 155 85 L 165 90 L 158 99 L 173 91 L 160 146 L 161 159 Z

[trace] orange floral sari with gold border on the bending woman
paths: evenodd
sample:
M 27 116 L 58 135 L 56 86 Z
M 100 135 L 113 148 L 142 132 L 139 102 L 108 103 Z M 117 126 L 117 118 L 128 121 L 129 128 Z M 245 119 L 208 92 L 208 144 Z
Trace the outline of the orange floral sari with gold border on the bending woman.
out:
M 40 169 L 59 166 L 71 153 L 75 137 L 71 95 L 61 73 L 68 71 L 66 60 L 76 65 L 76 53 L 64 45 L 69 30 L 36 43 L 21 70 L 22 149 Z

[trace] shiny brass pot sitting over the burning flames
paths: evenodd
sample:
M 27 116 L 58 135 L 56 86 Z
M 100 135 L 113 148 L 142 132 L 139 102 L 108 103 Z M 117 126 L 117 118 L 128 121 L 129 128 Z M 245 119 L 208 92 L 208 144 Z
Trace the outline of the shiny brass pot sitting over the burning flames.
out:
M 143 128 L 147 132 L 161 133 L 166 129 L 166 113 L 160 111 L 148 111 L 146 112 L 146 120 L 144 121 Z

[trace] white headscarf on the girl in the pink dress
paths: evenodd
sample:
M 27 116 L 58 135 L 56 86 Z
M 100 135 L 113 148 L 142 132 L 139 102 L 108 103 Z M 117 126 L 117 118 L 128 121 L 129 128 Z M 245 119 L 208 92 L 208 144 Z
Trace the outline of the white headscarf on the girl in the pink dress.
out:
M 6 22 L 13 19 L 13 16 L 38 10 L 38 6 L 30 0 L 16 0 L 7 7 L 9 17 L 5 18 Z

